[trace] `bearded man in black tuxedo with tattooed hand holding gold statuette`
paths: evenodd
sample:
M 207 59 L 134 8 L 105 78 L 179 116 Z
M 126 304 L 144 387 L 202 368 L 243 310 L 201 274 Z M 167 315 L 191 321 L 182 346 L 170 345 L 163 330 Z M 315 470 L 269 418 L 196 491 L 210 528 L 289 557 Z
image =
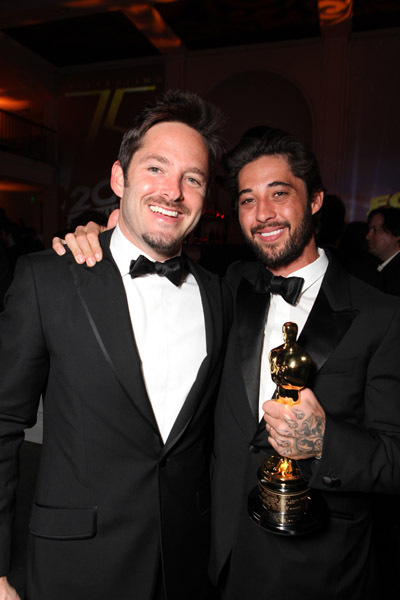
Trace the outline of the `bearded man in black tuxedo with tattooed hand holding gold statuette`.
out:
M 323 186 L 302 143 L 268 130 L 242 139 L 226 166 L 258 261 L 227 272 L 235 316 L 215 413 L 212 578 L 224 600 L 372 598 L 371 498 L 400 487 L 399 300 L 317 247 Z M 286 322 L 312 360 L 294 406 L 269 401 L 268 356 Z M 295 459 L 322 498 L 327 520 L 316 531 L 278 535 L 250 518 L 271 451 Z

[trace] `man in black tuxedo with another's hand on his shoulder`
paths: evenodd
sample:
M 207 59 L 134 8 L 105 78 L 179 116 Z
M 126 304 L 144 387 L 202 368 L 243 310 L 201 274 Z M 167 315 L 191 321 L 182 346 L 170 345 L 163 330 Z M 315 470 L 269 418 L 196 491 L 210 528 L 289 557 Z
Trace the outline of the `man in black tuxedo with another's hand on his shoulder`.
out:
M 29 600 L 205 600 L 212 415 L 230 324 L 184 259 L 221 150 L 220 112 L 167 92 L 122 140 L 104 260 L 20 260 L 0 316 L 0 599 L 24 429 L 44 398 Z M 223 317 L 225 315 L 225 318 Z

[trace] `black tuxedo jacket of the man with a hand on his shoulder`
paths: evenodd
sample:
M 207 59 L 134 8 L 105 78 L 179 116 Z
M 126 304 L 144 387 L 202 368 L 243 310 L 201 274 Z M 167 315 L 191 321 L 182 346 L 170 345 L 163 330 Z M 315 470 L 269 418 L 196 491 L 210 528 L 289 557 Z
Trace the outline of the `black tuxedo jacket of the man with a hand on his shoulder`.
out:
M 52 251 L 24 257 L 0 317 L 0 574 L 18 447 L 43 394 L 27 599 L 148 600 L 160 561 L 168 598 L 204 598 L 212 414 L 231 295 L 190 264 L 207 356 L 164 445 L 109 238 L 94 268 Z

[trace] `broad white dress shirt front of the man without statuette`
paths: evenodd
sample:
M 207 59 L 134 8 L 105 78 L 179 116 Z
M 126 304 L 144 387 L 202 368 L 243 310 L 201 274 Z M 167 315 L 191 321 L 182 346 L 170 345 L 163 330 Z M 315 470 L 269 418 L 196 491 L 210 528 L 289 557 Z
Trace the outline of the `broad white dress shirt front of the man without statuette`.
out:
M 125 286 L 147 393 L 165 442 L 206 356 L 199 286 L 190 273 L 179 287 L 156 274 L 132 279 L 131 260 L 140 254 L 154 259 L 118 226 L 110 249 Z

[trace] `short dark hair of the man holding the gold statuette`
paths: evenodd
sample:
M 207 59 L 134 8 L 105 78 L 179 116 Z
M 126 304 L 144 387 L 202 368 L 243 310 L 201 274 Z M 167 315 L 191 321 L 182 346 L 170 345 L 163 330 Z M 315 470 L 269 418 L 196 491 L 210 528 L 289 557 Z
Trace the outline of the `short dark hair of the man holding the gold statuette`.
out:
M 302 142 L 281 129 L 260 126 L 249 130 L 224 157 L 226 182 L 234 198 L 238 196 L 239 172 L 262 156 L 283 156 L 295 177 L 304 181 L 308 200 L 324 189 L 318 162 Z

